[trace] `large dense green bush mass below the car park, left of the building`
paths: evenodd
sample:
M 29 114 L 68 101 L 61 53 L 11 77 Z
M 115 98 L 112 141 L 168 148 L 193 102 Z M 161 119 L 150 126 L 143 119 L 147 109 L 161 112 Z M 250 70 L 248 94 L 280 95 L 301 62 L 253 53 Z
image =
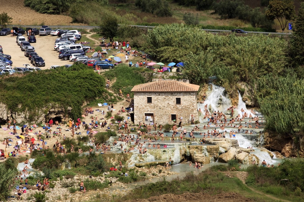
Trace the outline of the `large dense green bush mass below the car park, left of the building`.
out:
M 61 82 L 58 83 L 58 80 Z M 36 115 L 26 117 L 31 119 L 29 121 L 36 120 L 38 109 L 48 110 L 57 105 L 66 114 L 68 107 L 71 107 L 70 116 L 76 120 L 82 114 L 81 103 L 96 97 L 107 100 L 109 96 L 104 83 L 105 79 L 101 75 L 86 65 L 78 64 L 71 68 L 58 68 L 56 71 L 45 70 L 23 77 L 2 78 L 0 97 L 10 111 L 34 112 Z

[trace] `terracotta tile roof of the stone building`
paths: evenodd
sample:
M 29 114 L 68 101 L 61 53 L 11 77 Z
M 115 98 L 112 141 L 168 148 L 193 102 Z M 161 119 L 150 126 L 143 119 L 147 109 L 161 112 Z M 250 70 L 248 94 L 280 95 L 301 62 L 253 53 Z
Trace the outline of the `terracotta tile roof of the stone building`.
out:
M 152 81 L 139 84 L 132 88 L 132 92 L 197 92 L 199 85 L 180 81 Z

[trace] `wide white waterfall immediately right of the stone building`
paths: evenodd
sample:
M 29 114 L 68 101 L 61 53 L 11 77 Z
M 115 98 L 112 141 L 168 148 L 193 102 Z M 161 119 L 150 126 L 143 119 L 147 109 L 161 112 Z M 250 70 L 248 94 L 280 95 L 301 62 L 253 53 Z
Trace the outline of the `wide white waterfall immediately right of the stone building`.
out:
M 198 108 L 204 113 L 204 107 L 207 104 L 207 109 L 210 113 L 214 111 L 222 111 L 225 113 L 227 108 L 231 107 L 231 100 L 225 95 L 225 88 L 212 84 L 212 91 L 208 94 L 204 103 L 198 103 Z

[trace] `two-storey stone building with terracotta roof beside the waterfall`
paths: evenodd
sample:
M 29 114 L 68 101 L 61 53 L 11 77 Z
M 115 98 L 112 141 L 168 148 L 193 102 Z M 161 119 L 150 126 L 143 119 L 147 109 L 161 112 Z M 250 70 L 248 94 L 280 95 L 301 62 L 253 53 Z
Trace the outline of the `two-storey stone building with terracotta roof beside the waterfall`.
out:
M 183 117 L 186 124 L 191 115 L 198 120 L 198 90 L 199 85 L 166 80 L 134 86 L 134 123 L 173 124 Z

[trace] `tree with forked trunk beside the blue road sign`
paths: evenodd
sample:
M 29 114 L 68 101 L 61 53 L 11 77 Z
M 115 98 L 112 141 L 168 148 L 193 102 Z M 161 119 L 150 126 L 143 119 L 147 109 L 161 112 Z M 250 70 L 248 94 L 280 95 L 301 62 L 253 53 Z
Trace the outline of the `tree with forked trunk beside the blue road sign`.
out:
M 295 19 L 295 5 L 292 0 L 271 0 L 265 14 L 269 19 L 278 19 L 283 32 L 287 22 Z

